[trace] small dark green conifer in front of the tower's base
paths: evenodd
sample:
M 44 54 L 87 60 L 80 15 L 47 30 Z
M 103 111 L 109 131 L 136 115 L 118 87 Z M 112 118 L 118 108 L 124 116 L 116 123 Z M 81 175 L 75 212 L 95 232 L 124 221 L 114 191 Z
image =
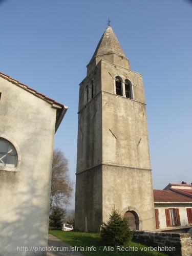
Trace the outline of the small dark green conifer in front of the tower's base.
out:
M 118 210 L 112 209 L 107 223 L 102 222 L 101 239 L 104 245 L 125 245 L 133 238 L 127 219 L 119 214 Z

